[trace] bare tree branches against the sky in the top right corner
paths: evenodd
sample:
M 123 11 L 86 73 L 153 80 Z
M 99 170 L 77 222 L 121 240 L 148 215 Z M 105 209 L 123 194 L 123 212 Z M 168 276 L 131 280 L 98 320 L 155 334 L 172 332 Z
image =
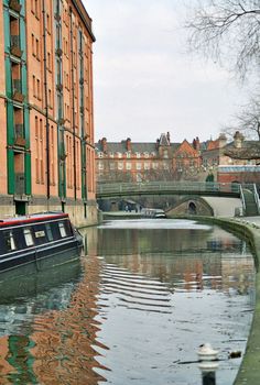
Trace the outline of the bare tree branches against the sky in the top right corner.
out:
M 260 67 L 260 0 L 197 0 L 186 26 L 189 47 L 228 66 L 245 80 Z

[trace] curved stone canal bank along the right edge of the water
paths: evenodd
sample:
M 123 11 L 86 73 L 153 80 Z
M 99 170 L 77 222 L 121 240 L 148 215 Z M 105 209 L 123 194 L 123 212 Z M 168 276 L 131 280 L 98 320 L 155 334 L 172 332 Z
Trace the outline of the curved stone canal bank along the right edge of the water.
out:
M 246 352 L 234 385 L 260 384 L 260 217 L 256 218 L 197 218 L 199 222 L 216 223 L 246 239 L 250 244 L 256 262 L 256 308 Z

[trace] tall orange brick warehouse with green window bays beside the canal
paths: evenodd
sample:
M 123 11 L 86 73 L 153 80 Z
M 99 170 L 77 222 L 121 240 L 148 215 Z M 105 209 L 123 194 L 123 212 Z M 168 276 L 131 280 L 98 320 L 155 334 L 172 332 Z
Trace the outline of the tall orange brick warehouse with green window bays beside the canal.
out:
M 0 215 L 95 223 L 91 19 L 80 0 L 0 0 Z

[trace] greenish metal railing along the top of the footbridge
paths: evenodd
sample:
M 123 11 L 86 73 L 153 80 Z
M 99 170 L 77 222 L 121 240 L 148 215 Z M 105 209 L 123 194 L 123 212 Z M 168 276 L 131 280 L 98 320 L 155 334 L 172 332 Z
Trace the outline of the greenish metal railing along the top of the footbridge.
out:
M 216 182 L 149 182 L 149 183 L 118 183 L 98 184 L 97 194 L 137 194 L 137 193 L 225 193 L 240 194 L 239 184 L 216 183 Z

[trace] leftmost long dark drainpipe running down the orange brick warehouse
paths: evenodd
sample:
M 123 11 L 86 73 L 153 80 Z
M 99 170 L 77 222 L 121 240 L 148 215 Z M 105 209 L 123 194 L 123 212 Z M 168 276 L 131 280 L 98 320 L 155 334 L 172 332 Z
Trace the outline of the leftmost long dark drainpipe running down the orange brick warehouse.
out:
M 43 68 L 44 68 L 44 102 L 45 102 L 45 121 L 46 121 L 46 196 L 47 210 L 50 205 L 50 122 L 48 122 L 48 96 L 47 96 L 47 55 L 46 55 L 46 20 L 45 20 L 45 1 L 42 1 L 43 14 Z

